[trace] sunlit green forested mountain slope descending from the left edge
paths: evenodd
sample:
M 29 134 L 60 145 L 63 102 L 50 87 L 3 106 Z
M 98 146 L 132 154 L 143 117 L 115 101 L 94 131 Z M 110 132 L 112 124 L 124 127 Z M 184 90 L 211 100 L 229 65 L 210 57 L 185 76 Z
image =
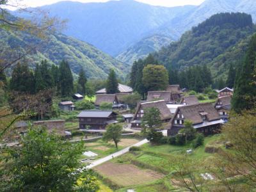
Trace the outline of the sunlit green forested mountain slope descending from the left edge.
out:
M 124 78 L 129 71 L 129 65 L 115 60 L 86 42 L 60 33 L 48 34 L 44 39 L 40 39 L 30 33 L 10 32 L 1 29 L 0 36 L 1 60 L 12 61 L 13 58 L 17 58 L 30 50 L 31 47 L 36 47 L 23 60 L 31 67 L 35 67 L 36 63 L 45 59 L 56 65 L 61 60 L 67 60 L 74 74 L 78 74 L 79 70 L 83 68 L 87 77 L 97 79 L 106 78 L 111 68 L 120 78 Z

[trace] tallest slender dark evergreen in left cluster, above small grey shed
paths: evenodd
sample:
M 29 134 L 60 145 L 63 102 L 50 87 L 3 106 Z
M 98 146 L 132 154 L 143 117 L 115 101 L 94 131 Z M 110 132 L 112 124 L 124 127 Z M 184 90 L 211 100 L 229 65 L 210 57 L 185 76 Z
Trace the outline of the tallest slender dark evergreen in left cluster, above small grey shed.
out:
M 60 93 L 61 97 L 68 97 L 73 94 L 73 76 L 67 61 L 60 63 Z

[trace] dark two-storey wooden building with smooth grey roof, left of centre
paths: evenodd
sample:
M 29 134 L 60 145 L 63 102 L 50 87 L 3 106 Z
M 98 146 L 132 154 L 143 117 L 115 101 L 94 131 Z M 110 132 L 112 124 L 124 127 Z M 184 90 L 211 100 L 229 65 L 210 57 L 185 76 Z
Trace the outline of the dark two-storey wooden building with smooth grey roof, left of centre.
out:
M 116 124 L 117 113 L 113 111 L 82 111 L 77 115 L 80 129 L 106 129 L 109 124 Z

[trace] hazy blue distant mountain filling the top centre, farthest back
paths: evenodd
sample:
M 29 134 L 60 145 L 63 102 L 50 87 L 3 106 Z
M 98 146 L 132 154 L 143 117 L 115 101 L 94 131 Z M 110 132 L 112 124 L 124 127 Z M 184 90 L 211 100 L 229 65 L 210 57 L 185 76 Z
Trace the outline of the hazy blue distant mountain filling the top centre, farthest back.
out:
M 40 7 L 52 16 L 68 19 L 67 29 L 63 31 L 65 35 L 88 42 L 111 56 L 117 56 L 146 36 L 154 35 L 155 29 L 192 8 L 195 6 L 166 8 L 132 0 L 106 3 L 63 1 Z M 169 33 L 168 36 L 177 40 L 177 35 Z

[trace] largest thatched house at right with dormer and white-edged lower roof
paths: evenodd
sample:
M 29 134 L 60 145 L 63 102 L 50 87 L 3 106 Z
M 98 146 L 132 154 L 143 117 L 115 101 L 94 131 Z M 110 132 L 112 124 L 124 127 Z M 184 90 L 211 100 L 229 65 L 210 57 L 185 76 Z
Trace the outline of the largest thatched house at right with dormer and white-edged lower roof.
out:
M 211 103 L 182 106 L 177 108 L 170 122 L 168 135 L 175 136 L 180 129 L 184 128 L 185 120 L 191 121 L 196 131 L 205 135 L 220 132 L 224 122 Z

